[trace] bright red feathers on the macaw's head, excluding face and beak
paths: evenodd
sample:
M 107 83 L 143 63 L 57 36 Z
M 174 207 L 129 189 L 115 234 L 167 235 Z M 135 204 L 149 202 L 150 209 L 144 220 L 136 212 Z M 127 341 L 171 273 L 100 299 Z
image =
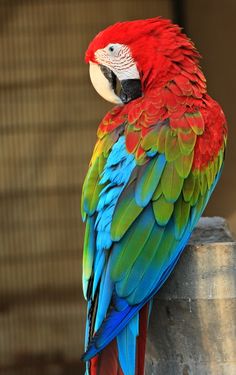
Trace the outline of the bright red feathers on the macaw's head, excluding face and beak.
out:
M 101 31 L 90 43 L 86 62 L 99 63 L 96 51 L 111 43 L 129 47 L 137 65 L 143 90 L 163 85 L 182 69 L 198 69 L 199 54 L 177 25 L 160 17 L 119 22 Z

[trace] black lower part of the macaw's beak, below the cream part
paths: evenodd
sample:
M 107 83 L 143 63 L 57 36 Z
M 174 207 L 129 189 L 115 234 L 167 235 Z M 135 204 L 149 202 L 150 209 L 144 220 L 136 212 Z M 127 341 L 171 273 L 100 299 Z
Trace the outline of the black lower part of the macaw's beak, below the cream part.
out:
M 100 65 L 100 69 L 106 79 L 110 82 L 112 90 L 120 97 L 124 104 L 142 96 L 142 85 L 140 79 L 125 79 L 119 81 L 111 69 Z

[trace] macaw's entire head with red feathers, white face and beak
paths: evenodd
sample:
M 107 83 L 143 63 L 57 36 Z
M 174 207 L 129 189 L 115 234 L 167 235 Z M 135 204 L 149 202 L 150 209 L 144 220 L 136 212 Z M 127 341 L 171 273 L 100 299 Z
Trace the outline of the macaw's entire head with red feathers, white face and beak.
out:
M 85 55 L 94 88 L 116 104 L 164 85 L 184 64 L 196 68 L 198 58 L 181 29 L 160 17 L 109 26 L 92 40 Z

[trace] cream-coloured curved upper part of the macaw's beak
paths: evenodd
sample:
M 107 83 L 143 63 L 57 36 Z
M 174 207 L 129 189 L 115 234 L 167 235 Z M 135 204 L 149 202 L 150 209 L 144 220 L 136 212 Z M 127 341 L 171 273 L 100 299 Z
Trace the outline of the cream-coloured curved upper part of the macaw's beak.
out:
M 121 99 L 113 91 L 110 82 L 104 76 L 98 64 L 89 63 L 89 75 L 93 87 L 102 98 L 114 104 L 122 104 Z

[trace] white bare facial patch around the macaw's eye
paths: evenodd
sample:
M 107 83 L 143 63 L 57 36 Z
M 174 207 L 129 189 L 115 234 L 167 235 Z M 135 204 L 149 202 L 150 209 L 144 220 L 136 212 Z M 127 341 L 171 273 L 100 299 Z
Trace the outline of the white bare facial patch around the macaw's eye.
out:
M 135 61 L 128 46 L 119 43 L 108 44 L 95 52 L 99 64 L 110 68 L 119 81 L 140 79 Z

